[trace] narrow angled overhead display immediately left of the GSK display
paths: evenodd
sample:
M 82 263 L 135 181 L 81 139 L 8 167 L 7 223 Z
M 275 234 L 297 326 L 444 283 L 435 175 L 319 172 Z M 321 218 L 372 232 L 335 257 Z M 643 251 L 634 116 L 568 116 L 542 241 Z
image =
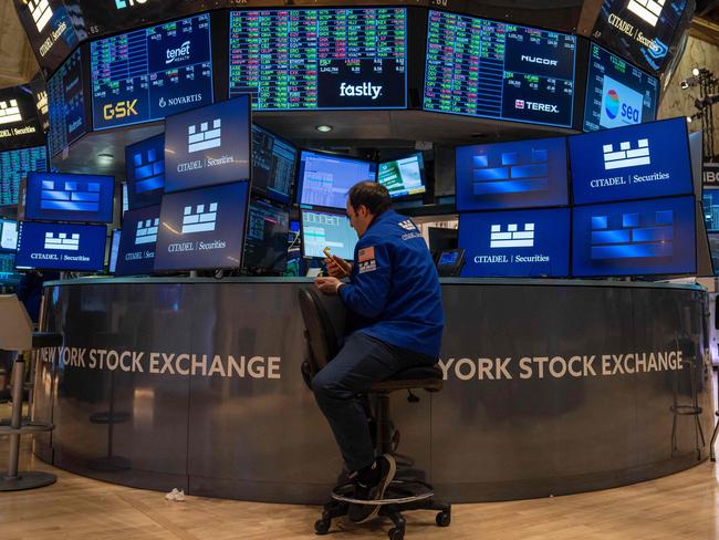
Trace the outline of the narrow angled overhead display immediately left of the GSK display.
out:
M 55 155 L 91 131 L 86 115 L 82 54 L 77 49 L 48 81 L 50 154 Z

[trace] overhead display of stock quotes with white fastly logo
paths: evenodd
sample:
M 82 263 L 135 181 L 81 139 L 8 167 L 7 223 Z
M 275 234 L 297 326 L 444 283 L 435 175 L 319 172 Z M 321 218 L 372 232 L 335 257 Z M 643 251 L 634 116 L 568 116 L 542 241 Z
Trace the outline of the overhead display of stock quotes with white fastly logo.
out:
M 405 108 L 407 11 L 343 8 L 230 13 L 230 97 L 260 111 Z

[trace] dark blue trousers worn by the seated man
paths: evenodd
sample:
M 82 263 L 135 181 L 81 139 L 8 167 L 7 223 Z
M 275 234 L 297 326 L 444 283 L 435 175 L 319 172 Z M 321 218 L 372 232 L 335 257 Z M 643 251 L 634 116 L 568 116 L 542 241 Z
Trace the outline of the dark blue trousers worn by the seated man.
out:
M 362 332 L 351 334 L 340 353 L 312 380 L 317 405 L 327 418 L 350 471 L 375 460 L 367 415 L 357 394 L 369 385 L 437 359 L 389 345 Z

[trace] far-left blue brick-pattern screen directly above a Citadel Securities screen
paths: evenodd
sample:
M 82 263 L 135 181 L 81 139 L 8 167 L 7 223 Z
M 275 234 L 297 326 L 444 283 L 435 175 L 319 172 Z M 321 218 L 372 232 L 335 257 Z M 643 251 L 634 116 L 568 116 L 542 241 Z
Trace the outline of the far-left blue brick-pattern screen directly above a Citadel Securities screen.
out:
M 112 176 L 30 173 L 25 217 L 110 224 L 114 191 Z

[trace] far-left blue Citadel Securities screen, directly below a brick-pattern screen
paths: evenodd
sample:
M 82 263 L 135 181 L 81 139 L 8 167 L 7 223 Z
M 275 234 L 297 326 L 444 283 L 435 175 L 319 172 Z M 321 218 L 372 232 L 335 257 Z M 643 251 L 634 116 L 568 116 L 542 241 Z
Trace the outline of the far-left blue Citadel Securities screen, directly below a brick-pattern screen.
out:
M 105 264 L 103 225 L 63 225 L 20 221 L 18 269 L 48 269 L 93 272 Z

